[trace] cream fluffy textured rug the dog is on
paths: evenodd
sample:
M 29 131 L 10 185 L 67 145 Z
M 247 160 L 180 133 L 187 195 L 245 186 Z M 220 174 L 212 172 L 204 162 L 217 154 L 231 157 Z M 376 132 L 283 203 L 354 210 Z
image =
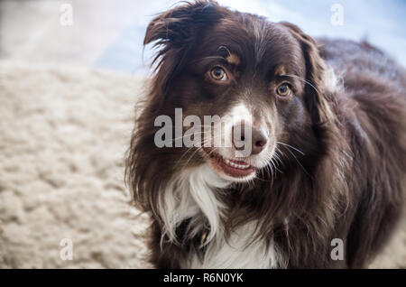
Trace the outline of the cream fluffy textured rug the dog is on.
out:
M 123 182 L 142 89 L 124 74 L 0 62 L 0 268 L 150 267 L 148 218 Z M 374 267 L 406 267 L 404 221 Z

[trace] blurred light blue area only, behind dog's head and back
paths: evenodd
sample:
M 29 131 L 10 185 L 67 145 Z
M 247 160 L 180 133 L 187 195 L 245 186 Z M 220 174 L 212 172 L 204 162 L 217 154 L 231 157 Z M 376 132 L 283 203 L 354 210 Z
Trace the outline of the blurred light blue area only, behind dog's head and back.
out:
M 154 2 L 154 1 L 152 1 Z M 406 66 L 406 1 L 404 0 L 219 0 L 239 11 L 261 14 L 270 21 L 288 21 L 311 36 L 328 36 L 368 40 Z M 153 14 L 171 8 L 177 1 L 153 3 Z M 343 7 L 343 25 L 331 23 L 332 5 Z M 150 12 L 151 9 L 148 9 Z M 97 67 L 143 74 L 148 68 L 151 51 L 143 53 L 143 35 L 153 14 L 134 11 L 133 23 L 126 26 L 97 60 Z

